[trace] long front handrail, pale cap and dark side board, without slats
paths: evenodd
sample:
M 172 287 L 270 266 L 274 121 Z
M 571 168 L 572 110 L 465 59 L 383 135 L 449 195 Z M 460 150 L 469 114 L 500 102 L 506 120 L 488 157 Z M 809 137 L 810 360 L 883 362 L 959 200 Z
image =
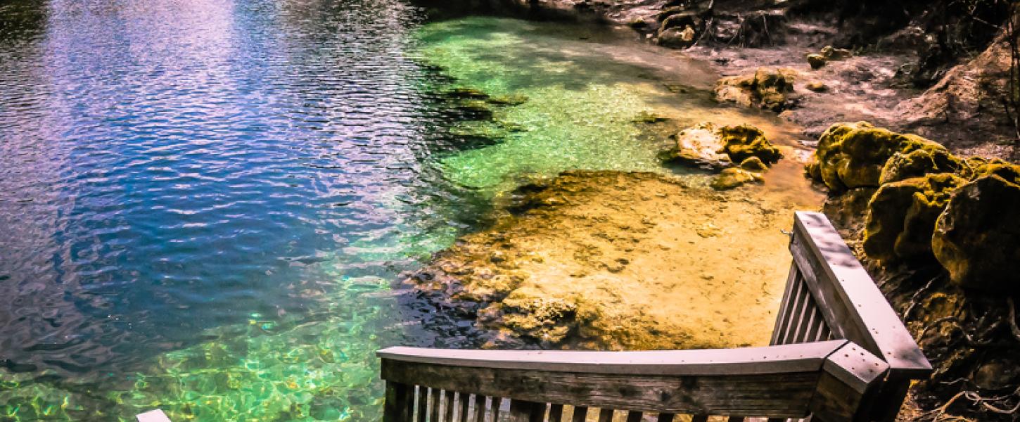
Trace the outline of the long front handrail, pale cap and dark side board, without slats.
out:
M 415 385 L 419 389 L 418 409 L 431 398 L 424 395 L 422 388 L 430 388 L 510 399 L 511 403 L 600 408 L 610 413 L 615 409 L 775 418 L 814 414 L 851 420 L 853 415 L 847 415 L 847 409 L 856 406 L 829 409 L 829 405 L 861 403 L 888 369 L 880 359 L 848 340 L 662 352 L 391 348 L 378 355 L 388 389 L 393 389 L 395 398 L 405 394 L 391 410 L 404 418 L 394 416 L 394 421 L 410 420 L 406 418 L 415 407 L 406 394 Z

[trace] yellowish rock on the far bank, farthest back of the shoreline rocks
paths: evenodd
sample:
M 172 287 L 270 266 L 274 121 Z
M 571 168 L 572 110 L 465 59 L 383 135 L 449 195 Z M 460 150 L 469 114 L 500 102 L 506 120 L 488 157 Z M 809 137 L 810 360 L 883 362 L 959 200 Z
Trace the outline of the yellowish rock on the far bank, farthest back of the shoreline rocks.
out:
M 794 69 L 759 67 L 754 74 L 719 80 L 715 85 L 715 98 L 719 102 L 779 112 L 792 106 L 789 93 L 794 92 L 796 75 Z

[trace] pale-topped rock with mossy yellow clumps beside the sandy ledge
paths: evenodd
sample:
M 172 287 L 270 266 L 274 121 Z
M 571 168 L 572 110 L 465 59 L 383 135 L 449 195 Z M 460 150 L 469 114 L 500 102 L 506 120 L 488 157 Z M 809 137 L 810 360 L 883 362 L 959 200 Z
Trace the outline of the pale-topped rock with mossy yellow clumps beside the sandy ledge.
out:
M 711 122 L 701 122 L 680 130 L 675 138 L 676 150 L 669 159 L 721 170 L 711 182 L 717 191 L 761 182 L 759 173 L 782 158 L 765 134 L 749 124 L 717 127 Z M 734 163 L 738 166 L 734 167 Z

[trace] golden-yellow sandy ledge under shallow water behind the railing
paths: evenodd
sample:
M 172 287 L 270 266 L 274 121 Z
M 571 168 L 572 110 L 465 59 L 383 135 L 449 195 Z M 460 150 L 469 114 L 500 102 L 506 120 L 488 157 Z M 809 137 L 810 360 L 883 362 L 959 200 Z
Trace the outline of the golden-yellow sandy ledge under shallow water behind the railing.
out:
M 766 345 L 790 262 L 780 230 L 820 201 L 776 170 L 725 193 L 704 176 L 565 172 L 518 190 L 516 213 L 438 254 L 416 288 L 469 304 L 475 326 L 499 333 L 489 347 Z

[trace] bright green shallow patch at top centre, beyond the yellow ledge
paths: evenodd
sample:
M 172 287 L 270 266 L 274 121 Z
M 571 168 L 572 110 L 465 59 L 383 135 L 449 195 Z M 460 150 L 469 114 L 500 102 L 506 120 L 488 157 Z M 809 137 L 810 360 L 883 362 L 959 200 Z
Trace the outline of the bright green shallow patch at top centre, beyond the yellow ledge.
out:
M 658 147 L 642 139 L 634 122 L 668 118 L 662 101 L 670 93 L 654 81 L 631 76 L 647 72 L 640 66 L 530 27 L 472 17 L 419 31 L 422 60 L 484 93 L 490 102 L 513 104 L 494 115 L 516 130 L 498 135 L 498 145 L 443 157 L 437 166 L 444 176 L 496 193 L 512 189 L 513 178 L 523 173 L 663 171 Z

